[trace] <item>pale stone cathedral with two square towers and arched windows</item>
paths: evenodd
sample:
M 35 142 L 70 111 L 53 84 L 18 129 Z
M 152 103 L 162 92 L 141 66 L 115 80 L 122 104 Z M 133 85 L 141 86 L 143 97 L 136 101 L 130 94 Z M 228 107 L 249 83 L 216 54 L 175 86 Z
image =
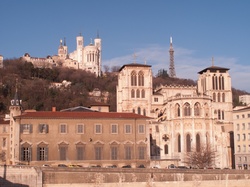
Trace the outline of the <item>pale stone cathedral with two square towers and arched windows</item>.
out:
M 199 72 L 195 87 L 162 85 L 153 90 L 151 66 L 134 63 L 120 69 L 117 111 L 154 118 L 149 127 L 151 160 L 163 167 L 177 161 L 183 165 L 187 152 L 209 144 L 216 152 L 213 167 L 233 167 L 228 70 L 211 66 Z

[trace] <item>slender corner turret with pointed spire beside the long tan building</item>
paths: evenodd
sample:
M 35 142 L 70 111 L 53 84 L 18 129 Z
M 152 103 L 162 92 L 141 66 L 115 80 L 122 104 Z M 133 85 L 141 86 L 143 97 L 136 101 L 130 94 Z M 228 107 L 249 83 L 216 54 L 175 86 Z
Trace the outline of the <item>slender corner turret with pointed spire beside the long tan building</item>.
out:
M 14 98 L 10 102 L 10 164 L 16 164 L 19 160 L 19 143 L 20 143 L 20 127 L 15 117 L 20 116 L 22 112 L 22 100 L 18 98 L 18 91 L 16 85 L 16 92 Z

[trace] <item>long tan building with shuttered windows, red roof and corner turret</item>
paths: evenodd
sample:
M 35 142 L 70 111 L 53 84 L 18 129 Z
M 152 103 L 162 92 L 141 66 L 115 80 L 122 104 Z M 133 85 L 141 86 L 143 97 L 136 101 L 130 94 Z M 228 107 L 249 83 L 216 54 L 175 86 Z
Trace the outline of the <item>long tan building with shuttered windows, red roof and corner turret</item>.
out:
M 22 112 L 19 103 L 13 99 L 10 106 L 9 164 L 149 164 L 146 116 L 96 111 Z

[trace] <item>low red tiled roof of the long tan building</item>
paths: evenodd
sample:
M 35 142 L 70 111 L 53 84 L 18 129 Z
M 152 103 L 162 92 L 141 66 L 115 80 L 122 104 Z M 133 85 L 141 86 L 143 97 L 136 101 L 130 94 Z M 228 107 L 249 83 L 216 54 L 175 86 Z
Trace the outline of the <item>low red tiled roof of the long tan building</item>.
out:
M 118 112 L 25 112 L 16 118 L 125 118 L 125 119 L 150 119 L 134 113 Z

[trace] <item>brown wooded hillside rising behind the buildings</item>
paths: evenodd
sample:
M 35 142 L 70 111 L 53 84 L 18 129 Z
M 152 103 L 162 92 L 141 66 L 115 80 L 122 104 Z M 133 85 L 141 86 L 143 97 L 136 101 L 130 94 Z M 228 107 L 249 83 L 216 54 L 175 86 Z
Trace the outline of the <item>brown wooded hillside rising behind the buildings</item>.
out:
M 96 102 L 110 105 L 110 111 L 116 111 L 116 85 L 118 67 L 104 67 L 105 76 L 95 75 L 83 70 L 68 68 L 39 69 L 32 63 L 19 59 L 4 60 L 4 69 L 0 69 L 0 113 L 8 113 L 10 100 L 15 95 L 16 85 L 24 109 L 49 111 L 90 106 Z M 111 72 L 109 70 L 112 70 Z M 189 79 L 169 78 L 166 71 L 159 71 L 154 79 L 154 88 L 159 85 L 196 85 Z M 52 83 L 71 82 L 69 87 L 52 87 Z M 101 96 L 90 95 L 98 89 Z M 247 94 L 245 91 L 232 89 L 233 103 L 239 105 L 238 96 Z M 106 93 L 109 93 L 108 95 Z

